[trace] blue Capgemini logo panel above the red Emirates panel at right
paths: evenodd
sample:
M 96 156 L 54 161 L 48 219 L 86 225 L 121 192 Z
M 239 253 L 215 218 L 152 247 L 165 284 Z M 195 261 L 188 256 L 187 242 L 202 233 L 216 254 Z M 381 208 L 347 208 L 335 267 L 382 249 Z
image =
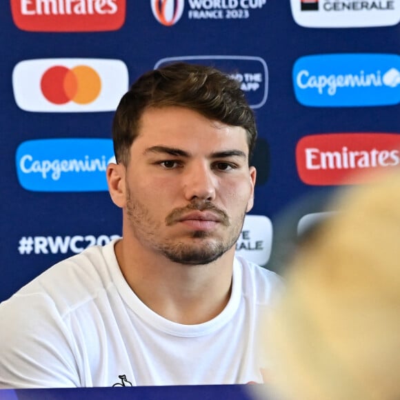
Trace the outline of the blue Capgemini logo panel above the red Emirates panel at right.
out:
M 316 54 L 293 66 L 294 94 L 314 107 L 390 106 L 400 103 L 397 54 Z

